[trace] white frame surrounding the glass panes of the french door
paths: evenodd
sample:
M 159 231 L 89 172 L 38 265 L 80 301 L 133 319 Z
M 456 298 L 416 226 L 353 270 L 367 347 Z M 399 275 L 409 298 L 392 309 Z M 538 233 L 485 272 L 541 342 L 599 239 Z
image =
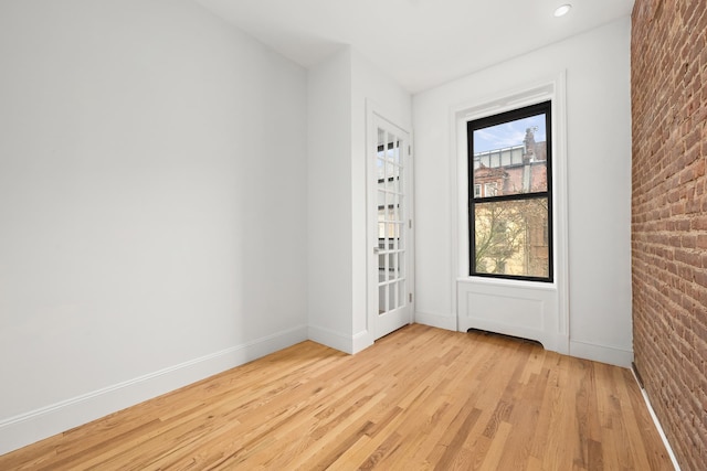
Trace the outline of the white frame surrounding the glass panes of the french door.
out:
M 378 246 L 378 175 L 376 173 L 374 161 L 377 158 L 378 124 L 382 121 L 384 126 L 395 133 L 402 136 L 408 146 L 408 151 L 403 149 L 402 159 L 404 161 L 404 195 L 405 204 L 403 206 L 404 220 L 409 223 L 404 224 L 405 231 L 405 280 L 407 280 L 407 323 L 414 322 L 415 312 L 415 285 L 414 285 L 414 170 L 413 170 L 413 146 L 412 132 L 404 127 L 395 124 L 387 117 L 384 113 L 367 101 L 366 104 L 366 309 L 367 309 L 367 330 L 371 340 L 374 342 L 389 332 L 379 334 L 378 331 L 378 255 L 373 247 Z M 374 210 L 376 207 L 376 210 Z M 403 221 L 404 221 L 403 220 Z M 402 325 L 400 325 L 402 327 Z

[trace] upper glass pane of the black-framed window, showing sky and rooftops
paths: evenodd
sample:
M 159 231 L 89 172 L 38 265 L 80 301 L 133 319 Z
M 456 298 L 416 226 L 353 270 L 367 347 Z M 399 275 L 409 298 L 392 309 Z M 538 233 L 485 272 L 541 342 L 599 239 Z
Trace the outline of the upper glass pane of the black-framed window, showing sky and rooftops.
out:
M 473 139 L 474 197 L 548 191 L 546 114 L 475 129 Z

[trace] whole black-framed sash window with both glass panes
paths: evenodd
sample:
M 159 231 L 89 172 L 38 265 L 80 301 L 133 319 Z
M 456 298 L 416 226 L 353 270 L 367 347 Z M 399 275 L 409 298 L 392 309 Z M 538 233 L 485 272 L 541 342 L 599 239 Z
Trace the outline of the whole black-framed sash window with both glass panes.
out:
M 472 276 L 552 281 L 550 105 L 467 122 Z

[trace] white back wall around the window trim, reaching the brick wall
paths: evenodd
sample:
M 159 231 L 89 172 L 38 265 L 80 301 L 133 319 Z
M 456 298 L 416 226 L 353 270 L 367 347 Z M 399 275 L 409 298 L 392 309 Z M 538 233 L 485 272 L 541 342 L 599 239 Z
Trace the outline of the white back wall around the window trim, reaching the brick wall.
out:
M 630 28 L 625 18 L 413 97 L 419 321 L 455 324 L 451 110 L 566 71 L 570 354 L 630 364 Z

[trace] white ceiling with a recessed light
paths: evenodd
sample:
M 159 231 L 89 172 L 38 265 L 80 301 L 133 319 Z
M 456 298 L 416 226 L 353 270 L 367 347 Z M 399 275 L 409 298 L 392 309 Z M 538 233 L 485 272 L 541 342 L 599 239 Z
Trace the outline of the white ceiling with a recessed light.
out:
M 634 0 L 197 0 L 308 67 L 351 45 L 418 93 L 631 14 Z M 572 10 L 555 18 L 555 9 Z

